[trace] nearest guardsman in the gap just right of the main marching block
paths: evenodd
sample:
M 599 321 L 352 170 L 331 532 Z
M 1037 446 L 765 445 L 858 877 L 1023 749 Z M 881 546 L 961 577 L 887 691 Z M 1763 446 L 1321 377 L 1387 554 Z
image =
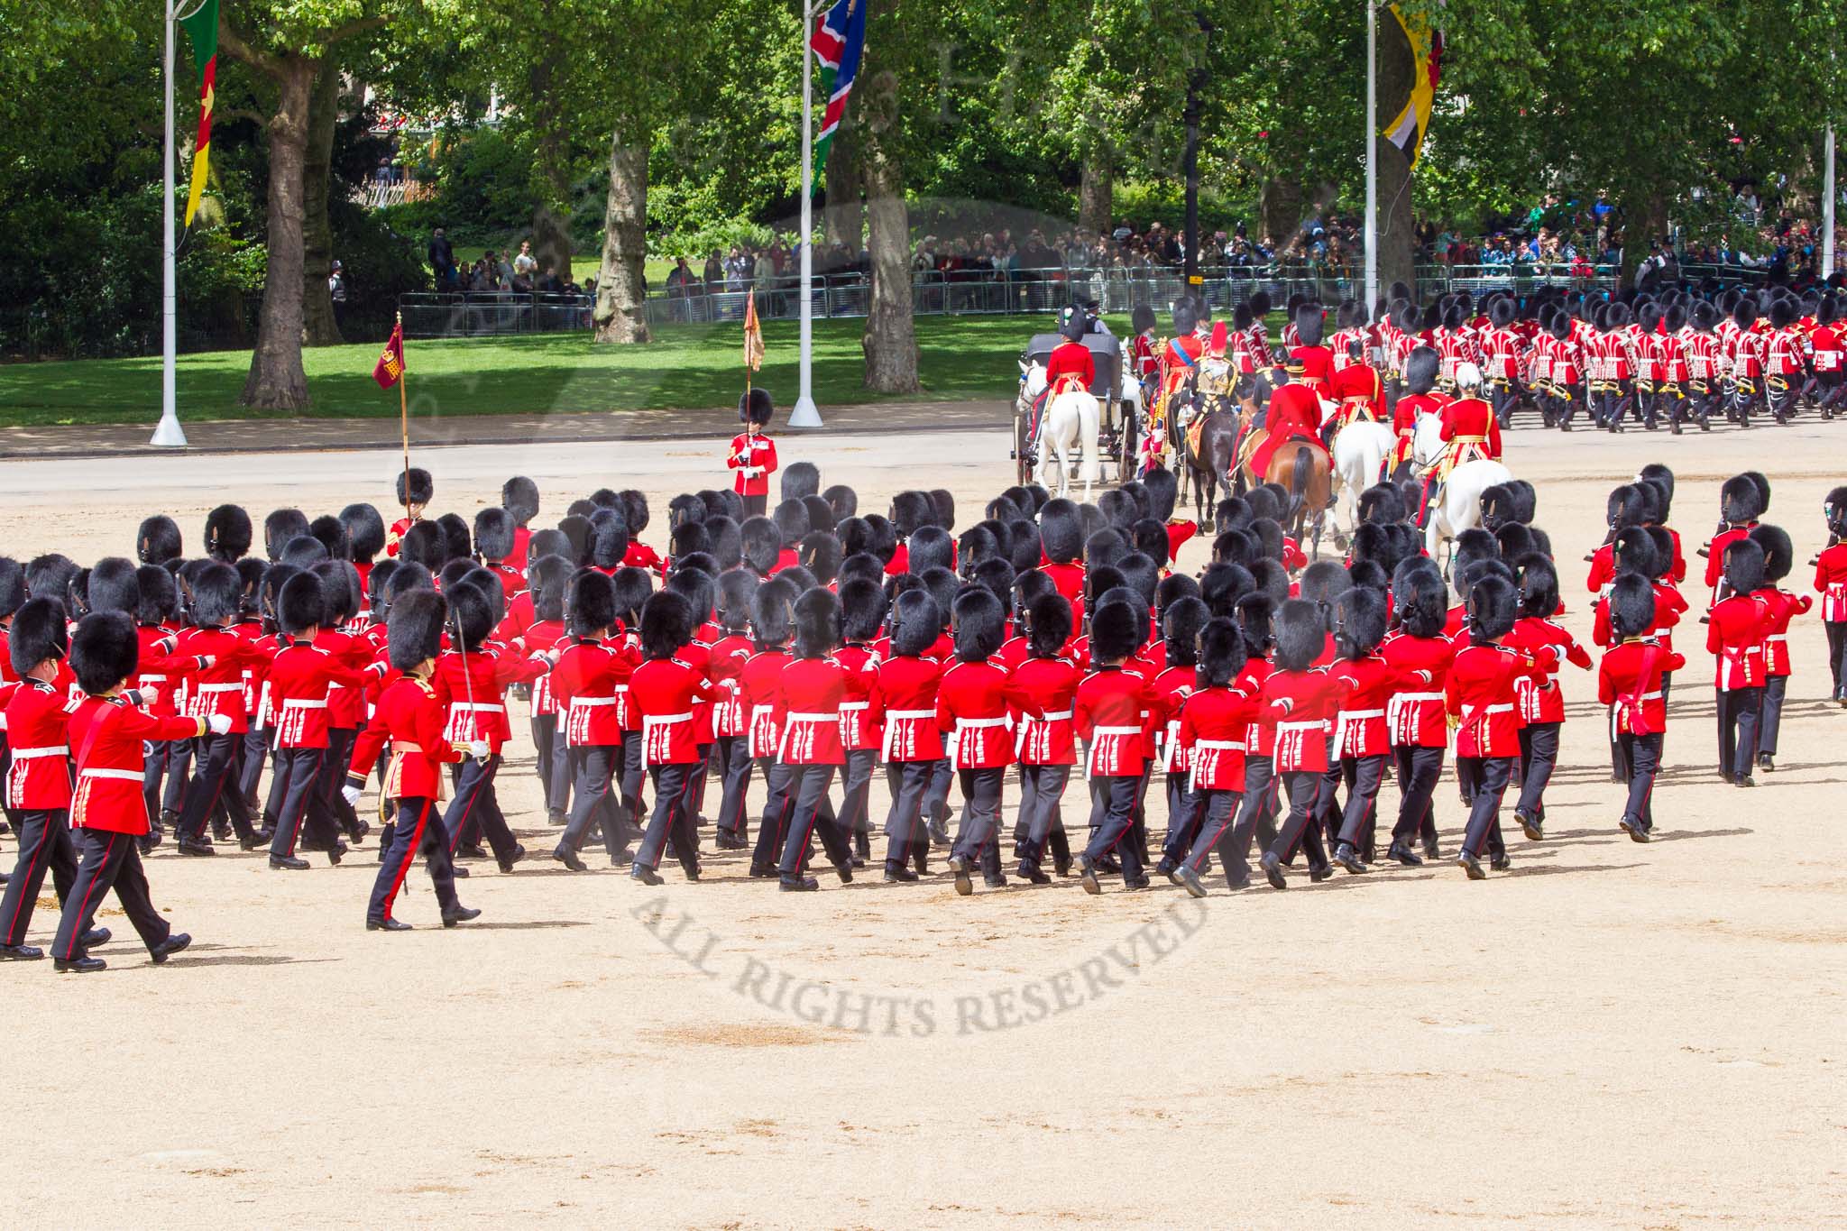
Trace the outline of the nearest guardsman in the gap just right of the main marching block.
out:
M 1611 587 L 1611 629 L 1616 646 L 1598 668 L 1598 699 L 1612 707 L 1622 760 L 1629 766 L 1629 801 L 1618 825 L 1636 842 L 1655 829 L 1649 797 L 1660 771 L 1660 738 L 1668 729 L 1662 675 L 1686 666 L 1648 635 L 1655 624 L 1655 591 L 1648 578 L 1624 574 Z

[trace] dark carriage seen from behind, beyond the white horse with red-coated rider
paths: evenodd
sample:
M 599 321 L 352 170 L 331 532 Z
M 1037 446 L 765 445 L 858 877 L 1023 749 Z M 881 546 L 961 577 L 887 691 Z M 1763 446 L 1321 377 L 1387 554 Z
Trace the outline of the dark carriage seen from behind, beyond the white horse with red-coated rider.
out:
M 1020 353 L 1020 395 L 1014 399 L 1014 467 L 1021 484 L 1042 482 L 1047 487 L 1062 489 L 1071 480 L 1073 458 L 1064 452 L 1060 437 L 1053 432 L 1053 408 L 1056 399 L 1045 395 L 1045 365 L 1051 353 L 1064 343 L 1060 334 L 1034 334 Z M 1082 448 L 1082 465 L 1088 478 L 1105 478 L 1099 458 L 1116 467 L 1116 484 L 1125 484 L 1136 474 L 1138 436 L 1136 428 L 1141 412 L 1141 386 L 1129 376 L 1129 362 L 1123 343 L 1110 334 L 1084 334 L 1084 347 L 1095 364 L 1095 378 L 1090 382 L 1090 397 L 1095 399 L 1095 419 L 1082 417 L 1088 406 L 1073 408 L 1077 413 L 1077 447 Z M 1042 400 L 1045 406 L 1038 406 Z M 1075 399 L 1082 400 L 1082 399 Z M 1042 419 L 1038 439 L 1032 439 L 1034 413 Z M 1062 423 L 1058 426 L 1064 426 Z M 1062 465 L 1062 474 L 1053 478 L 1051 463 Z M 1086 478 L 1086 487 L 1088 487 Z

